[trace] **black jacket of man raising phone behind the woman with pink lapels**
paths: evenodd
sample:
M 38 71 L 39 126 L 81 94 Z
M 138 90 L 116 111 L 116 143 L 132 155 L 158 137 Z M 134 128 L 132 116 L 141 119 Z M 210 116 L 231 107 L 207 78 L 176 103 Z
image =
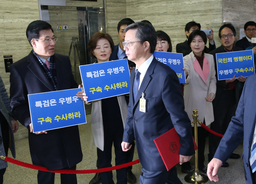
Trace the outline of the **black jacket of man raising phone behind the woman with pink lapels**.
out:
M 209 42 L 209 48 L 205 46 L 205 49 L 203 51 L 208 54 L 210 51 L 212 51 L 214 49 L 216 49 L 215 42 L 214 42 L 214 45 L 212 45 Z M 192 52 L 192 49 L 188 46 L 188 41 L 186 40 L 183 43 L 178 43 L 176 45 L 176 52 L 182 53 L 183 57 L 184 57 L 184 56 L 190 54 L 190 52 Z

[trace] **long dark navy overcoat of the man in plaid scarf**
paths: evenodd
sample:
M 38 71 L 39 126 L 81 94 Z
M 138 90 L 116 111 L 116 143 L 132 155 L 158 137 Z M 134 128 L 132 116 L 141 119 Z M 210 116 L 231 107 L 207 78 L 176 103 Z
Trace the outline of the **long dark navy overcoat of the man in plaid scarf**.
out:
M 57 90 L 77 88 L 68 56 L 51 56 L 56 67 Z M 12 114 L 29 130 L 29 148 L 33 164 L 58 170 L 82 161 L 78 126 L 48 130 L 47 134 L 30 133 L 28 94 L 55 91 L 37 58 L 30 54 L 10 66 L 10 100 Z

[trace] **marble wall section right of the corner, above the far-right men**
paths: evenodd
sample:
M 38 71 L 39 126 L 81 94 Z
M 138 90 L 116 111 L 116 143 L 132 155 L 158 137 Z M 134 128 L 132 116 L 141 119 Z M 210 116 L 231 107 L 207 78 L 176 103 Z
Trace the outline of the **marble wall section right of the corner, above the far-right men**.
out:
M 240 29 L 246 22 L 256 22 L 255 7 L 255 0 L 223 0 L 223 21 L 232 23 L 236 28 L 236 40 L 240 39 Z

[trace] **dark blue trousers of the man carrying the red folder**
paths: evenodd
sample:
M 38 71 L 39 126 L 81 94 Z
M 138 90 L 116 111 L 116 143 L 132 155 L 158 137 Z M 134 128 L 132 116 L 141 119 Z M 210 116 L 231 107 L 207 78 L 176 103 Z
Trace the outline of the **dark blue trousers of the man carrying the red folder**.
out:
M 182 184 L 177 176 L 176 167 L 171 168 L 169 171 L 146 171 L 141 168 L 140 183 L 141 184 Z

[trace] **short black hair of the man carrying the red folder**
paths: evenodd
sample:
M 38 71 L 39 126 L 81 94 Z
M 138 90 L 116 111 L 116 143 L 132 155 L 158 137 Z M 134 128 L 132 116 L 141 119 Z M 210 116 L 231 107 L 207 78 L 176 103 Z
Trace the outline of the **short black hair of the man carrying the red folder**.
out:
M 141 44 L 148 41 L 150 53 L 154 53 L 155 46 L 157 45 L 157 33 L 155 32 L 155 28 L 149 23 L 135 22 L 127 26 L 124 31 L 127 32 L 130 29 L 137 30 L 135 37 Z

